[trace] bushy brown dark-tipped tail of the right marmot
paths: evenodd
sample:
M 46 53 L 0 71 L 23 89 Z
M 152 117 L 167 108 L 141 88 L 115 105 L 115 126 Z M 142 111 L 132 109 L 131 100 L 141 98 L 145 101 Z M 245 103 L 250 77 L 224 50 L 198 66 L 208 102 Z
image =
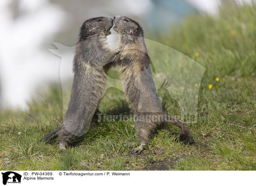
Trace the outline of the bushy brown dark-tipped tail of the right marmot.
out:
M 181 122 L 178 119 L 174 119 L 174 118 L 171 119 L 170 123 L 172 125 L 177 126 L 180 129 L 180 138 L 179 138 L 180 141 L 183 141 L 183 142 L 186 142 L 186 143 L 192 143 L 193 142 L 192 135 L 189 131 L 188 126 L 185 123 Z

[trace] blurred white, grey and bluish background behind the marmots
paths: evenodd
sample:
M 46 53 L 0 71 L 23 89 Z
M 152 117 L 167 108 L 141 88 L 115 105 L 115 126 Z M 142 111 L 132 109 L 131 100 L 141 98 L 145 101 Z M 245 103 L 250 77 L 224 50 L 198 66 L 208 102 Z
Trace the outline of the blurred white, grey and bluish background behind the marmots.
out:
M 145 38 L 159 41 L 159 35 L 182 24 L 186 17 L 194 14 L 218 17 L 219 7 L 234 3 L 251 1 L 0 1 L 0 110 L 26 110 L 27 103 L 36 93 L 46 90 L 50 82 L 60 84 L 61 58 L 48 49 L 56 49 L 52 42 L 74 46 L 81 24 L 90 17 L 131 17 L 143 26 Z M 64 74 L 64 78 L 72 77 L 70 62 Z

